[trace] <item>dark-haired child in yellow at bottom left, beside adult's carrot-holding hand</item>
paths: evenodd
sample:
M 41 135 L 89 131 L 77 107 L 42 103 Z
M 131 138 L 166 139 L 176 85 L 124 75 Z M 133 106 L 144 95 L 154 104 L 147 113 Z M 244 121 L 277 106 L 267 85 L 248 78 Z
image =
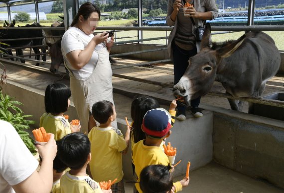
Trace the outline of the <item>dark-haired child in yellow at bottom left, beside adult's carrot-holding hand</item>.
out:
M 60 179 L 61 193 L 102 192 L 99 184 L 86 174 L 87 164 L 91 160 L 90 150 L 89 138 L 80 132 L 67 134 L 59 141 L 57 154 L 70 168 Z

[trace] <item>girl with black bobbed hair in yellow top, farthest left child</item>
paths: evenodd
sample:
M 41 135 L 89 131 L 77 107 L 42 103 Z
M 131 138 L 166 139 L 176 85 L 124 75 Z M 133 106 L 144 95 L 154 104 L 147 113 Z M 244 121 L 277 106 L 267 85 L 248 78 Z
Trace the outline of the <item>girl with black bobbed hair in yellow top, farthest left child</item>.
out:
M 81 129 L 80 123 L 78 126 L 73 126 L 63 117 L 64 112 L 69 108 L 70 97 L 70 88 L 65 84 L 53 83 L 46 87 L 44 95 L 46 113 L 40 117 L 39 127 L 43 127 L 46 132 L 53 133 L 55 140 Z

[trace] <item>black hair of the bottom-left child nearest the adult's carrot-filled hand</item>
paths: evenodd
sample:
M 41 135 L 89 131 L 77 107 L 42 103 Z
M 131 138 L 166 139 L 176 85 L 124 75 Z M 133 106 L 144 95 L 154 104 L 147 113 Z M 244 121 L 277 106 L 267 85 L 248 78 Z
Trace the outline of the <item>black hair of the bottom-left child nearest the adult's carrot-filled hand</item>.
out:
M 60 139 L 57 154 L 61 161 L 70 169 L 82 168 L 91 152 L 91 143 L 87 135 L 73 132 Z

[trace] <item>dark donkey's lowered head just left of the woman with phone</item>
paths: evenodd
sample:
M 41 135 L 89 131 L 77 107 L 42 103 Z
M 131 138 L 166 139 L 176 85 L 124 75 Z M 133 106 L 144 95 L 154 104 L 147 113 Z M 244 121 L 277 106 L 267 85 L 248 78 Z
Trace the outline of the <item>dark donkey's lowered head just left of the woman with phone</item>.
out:
M 51 65 L 49 70 L 51 73 L 56 74 L 60 64 L 63 63 L 63 56 L 61 52 L 61 39 L 54 44 L 46 43 L 49 47 L 48 54 L 51 58 Z

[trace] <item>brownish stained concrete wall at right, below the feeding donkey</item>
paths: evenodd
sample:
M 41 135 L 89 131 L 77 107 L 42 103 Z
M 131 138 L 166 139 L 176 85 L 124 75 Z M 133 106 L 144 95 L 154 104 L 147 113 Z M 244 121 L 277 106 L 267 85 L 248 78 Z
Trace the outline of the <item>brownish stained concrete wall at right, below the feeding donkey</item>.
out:
M 213 159 L 232 170 L 284 188 L 284 122 L 214 111 Z

